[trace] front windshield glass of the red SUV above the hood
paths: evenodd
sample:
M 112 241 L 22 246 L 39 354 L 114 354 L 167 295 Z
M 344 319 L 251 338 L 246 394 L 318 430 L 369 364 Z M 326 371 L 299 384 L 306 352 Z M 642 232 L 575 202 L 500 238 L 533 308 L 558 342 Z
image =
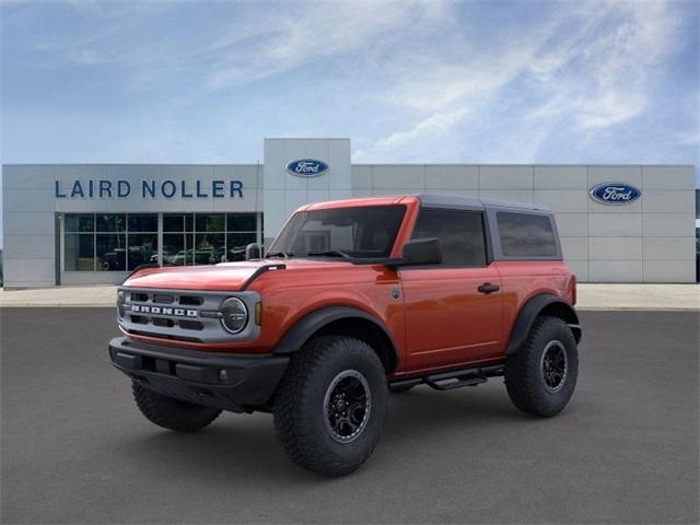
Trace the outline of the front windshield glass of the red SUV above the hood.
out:
M 388 257 L 405 206 L 361 206 L 294 214 L 272 243 L 268 257 Z

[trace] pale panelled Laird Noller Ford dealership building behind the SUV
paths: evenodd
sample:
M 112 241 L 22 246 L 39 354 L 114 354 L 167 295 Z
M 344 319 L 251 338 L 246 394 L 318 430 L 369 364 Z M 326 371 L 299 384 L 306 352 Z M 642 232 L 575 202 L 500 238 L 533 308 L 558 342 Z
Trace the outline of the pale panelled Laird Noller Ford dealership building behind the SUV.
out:
M 544 205 L 582 282 L 696 282 L 692 165 L 353 164 L 349 139 L 265 139 L 261 164 L 3 166 L 5 288 L 241 260 L 308 202 L 441 194 Z

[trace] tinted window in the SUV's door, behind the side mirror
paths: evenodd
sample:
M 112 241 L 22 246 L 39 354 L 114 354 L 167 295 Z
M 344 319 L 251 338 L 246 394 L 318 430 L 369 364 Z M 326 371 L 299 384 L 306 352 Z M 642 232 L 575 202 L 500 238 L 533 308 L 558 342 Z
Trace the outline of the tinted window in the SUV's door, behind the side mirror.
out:
M 443 266 L 486 266 L 481 213 L 422 208 L 411 238 L 431 237 L 440 240 Z

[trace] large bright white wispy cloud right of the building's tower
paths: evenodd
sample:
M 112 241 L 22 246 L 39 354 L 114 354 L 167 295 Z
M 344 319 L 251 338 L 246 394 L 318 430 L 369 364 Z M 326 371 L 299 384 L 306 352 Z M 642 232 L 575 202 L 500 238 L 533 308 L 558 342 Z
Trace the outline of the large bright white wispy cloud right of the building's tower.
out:
M 417 112 L 413 121 L 377 138 L 355 158 L 404 155 L 425 141 L 445 140 L 467 118 L 474 129 L 483 129 L 498 106 L 521 113 L 520 119 L 517 114 L 506 118 L 516 124 L 510 132 L 521 135 L 524 155 L 536 154 L 537 144 L 562 127 L 585 133 L 642 115 L 656 94 L 658 69 L 677 47 L 682 10 L 664 1 L 555 8 L 538 24 L 517 26 L 520 36 L 504 31 L 493 51 L 467 34 L 453 42 L 464 54 L 443 49 L 448 60 L 436 61 L 421 78 L 399 79 L 390 103 Z M 511 96 L 520 104 L 513 105 Z

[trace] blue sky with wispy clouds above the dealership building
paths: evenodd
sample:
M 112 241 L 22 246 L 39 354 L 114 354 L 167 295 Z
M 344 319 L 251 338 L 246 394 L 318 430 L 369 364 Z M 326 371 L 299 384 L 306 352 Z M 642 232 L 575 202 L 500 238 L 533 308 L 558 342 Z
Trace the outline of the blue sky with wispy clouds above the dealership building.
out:
M 698 165 L 699 5 L 0 0 L 0 162 Z

